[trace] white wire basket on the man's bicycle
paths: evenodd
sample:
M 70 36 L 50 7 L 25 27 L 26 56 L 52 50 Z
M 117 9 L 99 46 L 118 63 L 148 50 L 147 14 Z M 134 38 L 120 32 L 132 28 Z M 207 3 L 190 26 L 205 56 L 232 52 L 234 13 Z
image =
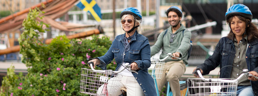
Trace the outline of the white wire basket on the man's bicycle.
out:
M 149 74 L 152 78 L 160 79 L 164 69 L 164 61 L 159 61 L 159 59 L 153 59 L 151 61 L 151 66 L 148 68 Z

